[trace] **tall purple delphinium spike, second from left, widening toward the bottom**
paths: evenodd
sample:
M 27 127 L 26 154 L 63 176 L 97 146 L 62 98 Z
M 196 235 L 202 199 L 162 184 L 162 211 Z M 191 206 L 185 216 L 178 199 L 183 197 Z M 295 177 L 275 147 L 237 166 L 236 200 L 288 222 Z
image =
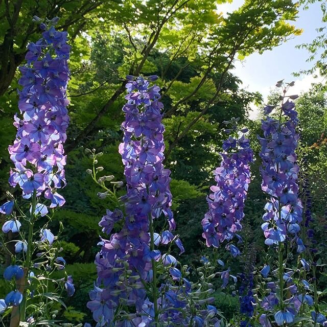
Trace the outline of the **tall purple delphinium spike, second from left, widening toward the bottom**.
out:
M 95 315 L 100 323 L 110 322 L 111 311 L 119 305 L 120 299 L 126 299 L 128 306 L 136 307 L 137 313 L 143 312 L 146 291 L 140 278 L 150 281 L 152 276 L 152 260 L 159 260 L 161 253 L 150 248 L 149 219 L 154 220 L 164 215 L 174 230 L 175 222 L 171 211 L 172 195 L 169 189 L 170 171 L 164 168 L 165 128 L 161 123 L 163 108 L 160 99 L 160 88 L 150 86 L 153 77 L 128 77 L 126 84 L 127 104 L 123 107 L 125 121 L 123 143 L 119 146 L 125 165 L 127 194 L 122 199 L 125 203 L 125 215 L 121 211 L 107 211 L 100 222 L 103 231 L 111 233 L 114 223 L 124 221 L 119 232 L 111 233 L 109 240 L 102 240 L 102 249 L 96 257 L 98 269 L 98 285 L 104 290 L 95 288 L 94 299 L 88 302 L 88 308 L 94 311 L 95 301 L 106 303 L 108 310 L 103 316 Z M 177 241 L 167 231 L 154 242 L 165 240 L 164 244 Z M 182 249 L 182 248 L 181 248 Z M 125 278 L 118 286 L 124 269 L 130 269 L 129 278 Z M 92 299 L 92 298 L 91 298 Z M 96 308 L 98 308 L 96 306 Z M 98 310 L 98 309 L 97 309 Z M 108 314 L 106 314 L 108 312 Z M 100 319 L 102 319 L 100 321 Z

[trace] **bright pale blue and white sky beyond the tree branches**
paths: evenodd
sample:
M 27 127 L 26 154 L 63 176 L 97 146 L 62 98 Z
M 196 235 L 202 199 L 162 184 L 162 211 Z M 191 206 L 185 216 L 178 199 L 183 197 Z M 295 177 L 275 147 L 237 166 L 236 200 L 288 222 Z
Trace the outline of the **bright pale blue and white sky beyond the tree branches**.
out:
M 232 12 L 243 4 L 243 0 L 234 0 L 231 4 L 219 5 L 218 11 L 223 13 Z M 278 80 L 285 79 L 286 82 L 295 81 L 292 87 L 292 94 L 300 94 L 308 91 L 311 83 L 316 81 L 312 75 L 292 76 L 292 73 L 299 72 L 300 69 L 311 68 L 313 62 L 306 62 L 309 53 L 305 49 L 296 49 L 295 46 L 302 43 L 311 42 L 318 34 L 316 29 L 324 26 L 322 23 L 322 12 L 319 3 L 310 5 L 308 10 L 300 9 L 298 18 L 292 22 L 297 28 L 303 30 L 300 36 L 296 36 L 286 43 L 283 43 L 272 51 L 266 51 L 262 55 L 254 53 L 244 61 L 237 61 L 233 73 L 242 82 L 243 88 L 249 91 L 259 91 L 266 101 L 271 89 Z M 321 77 L 318 78 L 321 81 Z M 251 119 L 256 119 L 258 109 L 251 106 Z

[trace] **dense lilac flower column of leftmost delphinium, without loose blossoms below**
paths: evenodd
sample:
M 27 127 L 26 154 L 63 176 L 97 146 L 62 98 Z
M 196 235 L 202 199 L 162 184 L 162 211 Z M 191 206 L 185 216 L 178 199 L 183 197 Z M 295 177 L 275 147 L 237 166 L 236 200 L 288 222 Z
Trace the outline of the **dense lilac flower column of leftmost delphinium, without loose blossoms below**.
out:
M 52 201 L 50 207 L 65 202 L 56 190 L 65 185 L 63 143 L 69 122 L 66 87 L 70 49 L 66 42 L 67 32 L 51 27 L 36 43 L 29 44 L 28 64 L 19 67 L 22 90 L 18 107 L 22 116 L 15 115 L 16 139 L 8 148 L 15 166 L 10 171 L 11 186 L 18 184 L 24 198 L 30 198 L 34 191 L 37 196 L 45 191 L 45 198 Z

